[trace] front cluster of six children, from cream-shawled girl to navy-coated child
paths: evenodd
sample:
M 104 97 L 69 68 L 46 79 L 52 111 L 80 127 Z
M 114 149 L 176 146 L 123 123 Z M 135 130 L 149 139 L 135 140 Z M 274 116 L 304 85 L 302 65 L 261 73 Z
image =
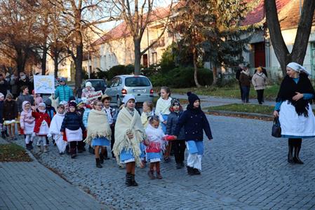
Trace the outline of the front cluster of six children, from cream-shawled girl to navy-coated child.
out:
M 135 166 L 141 167 L 146 161 L 149 162 L 149 178 L 162 179 L 160 162 L 162 158 L 164 162 L 170 161 L 172 146 L 177 169 L 185 166 L 187 146 L 187 172 L 201 174 L 203 131 L 209 140 L 213 137 L 199 97 L 192 92 L 187 92 L 187 96 L 189 104 L 183 111 L 180 102 L 170 97 L 170 89 L 161 87 L 155 112 L 152 102 L 144 102 L 141 116 L 135 110 L 133 94 L 124 97 L 116 119 L 113 151 L 117 162 L 126 164 L 126 186 L 138 186 Z

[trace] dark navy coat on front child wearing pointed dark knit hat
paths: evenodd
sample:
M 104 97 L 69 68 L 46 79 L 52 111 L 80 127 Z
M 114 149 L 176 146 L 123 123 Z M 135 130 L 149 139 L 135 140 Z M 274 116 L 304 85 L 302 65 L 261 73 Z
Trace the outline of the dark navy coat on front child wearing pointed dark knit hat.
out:
M 182 127 L 185 127 L 186 141 L 203 141 L 203 130 L 208 139 L 213 139 L 210 125 L 205 113 L 203 113 L 201 109 L 194 110 L 187 108 L 187 110 L 182 113 L 175 128 L 175 136 L 178 137 Z

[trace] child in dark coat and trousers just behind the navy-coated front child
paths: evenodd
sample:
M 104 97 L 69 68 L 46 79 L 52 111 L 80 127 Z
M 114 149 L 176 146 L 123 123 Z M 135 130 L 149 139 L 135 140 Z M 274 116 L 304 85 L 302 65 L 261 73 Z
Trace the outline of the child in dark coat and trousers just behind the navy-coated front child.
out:
M 168 123 L 166 124 L 166 134 L 174 135 L 178 119 L 182 116 L 182 106 L 177 99 L 172 99 L 170 107 L 170 114 L 168 115 Z M 174 148 L 174 156 L 176 162 L 176 169 L 181 169 L 185 167 L 185 130 L 184 127 L 180 130 L 175 141 L 172 141 L 172 147 Z

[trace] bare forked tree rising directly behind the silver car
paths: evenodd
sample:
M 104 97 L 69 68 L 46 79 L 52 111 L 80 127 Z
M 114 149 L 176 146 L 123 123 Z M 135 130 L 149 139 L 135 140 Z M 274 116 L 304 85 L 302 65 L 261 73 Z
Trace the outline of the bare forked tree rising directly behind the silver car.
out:
M 133 37 L 135 50 L 135 75 L 140 74 L 141 57 L 149 48 L 159 41 L 170 23 L 170 15 L 172 14 L 173 0 L 170 0 L 168 8 L 156 9 L 154 0 L 138 1 L 138 0 L 112 0 L 119 16 L 126 22 L 126 25 Z M 163 30 L 158 38 L 150 43 L 147 48 L 141 50 L 142 36 L 151 22 L 161 22 Z

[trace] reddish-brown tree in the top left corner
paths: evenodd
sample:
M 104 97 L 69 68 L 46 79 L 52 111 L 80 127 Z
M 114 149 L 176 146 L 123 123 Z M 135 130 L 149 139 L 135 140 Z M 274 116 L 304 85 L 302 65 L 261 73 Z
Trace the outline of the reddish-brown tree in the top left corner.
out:
M 29 1 L 6 0 L 0 3 L 0 48 L 15 60 L 18 72 L 25 70 L 29 57 L 39 45 L 39 22 Z

